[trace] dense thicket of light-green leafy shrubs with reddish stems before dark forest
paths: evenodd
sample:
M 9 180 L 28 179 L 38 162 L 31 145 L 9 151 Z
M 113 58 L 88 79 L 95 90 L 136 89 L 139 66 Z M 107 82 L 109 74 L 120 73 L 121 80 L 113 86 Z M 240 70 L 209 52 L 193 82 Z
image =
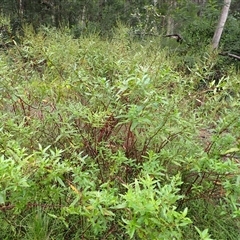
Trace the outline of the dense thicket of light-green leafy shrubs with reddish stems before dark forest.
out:
M 1 51 L 1 239 L 239 237 L 237 75 L 126 32 Z

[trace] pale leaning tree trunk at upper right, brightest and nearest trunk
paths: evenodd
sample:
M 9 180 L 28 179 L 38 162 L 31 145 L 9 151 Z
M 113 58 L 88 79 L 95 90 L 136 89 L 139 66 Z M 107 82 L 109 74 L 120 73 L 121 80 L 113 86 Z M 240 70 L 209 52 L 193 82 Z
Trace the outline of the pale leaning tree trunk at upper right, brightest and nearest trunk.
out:
M 215 30 L 215 33 L 214 33 L 214 36 L 212 39 L 212 48 L 213 49 L 218 48 L 218 45 L 219 45 L 219 42 L 221 39 L 221 35 L 222 35 L 222 31 L 223 31 L 224 25 L 225 25 L 227 17 L 228 17 L 230 5 L 231 5 L 231 0 L 224 0 L 222 12 L 221 12 L 220 18 L 218 20 L 218 25 L 217 25 L 217 28 Z

